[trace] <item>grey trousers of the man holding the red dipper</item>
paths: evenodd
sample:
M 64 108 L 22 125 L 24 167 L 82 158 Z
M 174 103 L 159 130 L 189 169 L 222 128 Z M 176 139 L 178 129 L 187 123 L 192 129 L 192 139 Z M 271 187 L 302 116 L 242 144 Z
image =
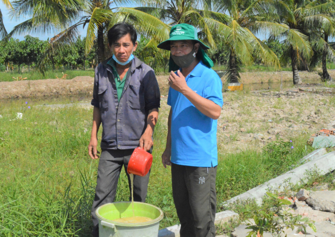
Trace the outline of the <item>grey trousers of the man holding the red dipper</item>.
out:
M 96 215 L 96 210 L 99 206 L 114 201 L 116 195 L 117 183 L 119 180 L 122 166 L 125 171 L 129 182 L 129 200 L 131 197 L 131 182 L 129 174 L 127 173 L 128 162 L 132 156 L 134 149 L 128 150 L 102 150 L 98 166 L 98 179 L 96 187 L 96 195 L 92 205 L 92 220 L 93 220 L 93 236 L 99 237 L 99 220 Z M 144 176 L 134 175 L 134 201 L 145 202 L 147 195 L 149 173 Z

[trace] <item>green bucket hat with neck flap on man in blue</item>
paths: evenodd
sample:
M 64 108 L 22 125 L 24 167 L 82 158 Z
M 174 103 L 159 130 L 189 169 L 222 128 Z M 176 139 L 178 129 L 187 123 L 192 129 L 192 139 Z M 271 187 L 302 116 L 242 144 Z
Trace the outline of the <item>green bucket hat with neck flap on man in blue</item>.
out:
M 170 30 L 170 39 L 165 40 L 157 45 L 158 48 L 170 50 L 170 41 L 173 40 L 195 40 L 198 43 L 200 43 L 200 48 L 198 50 L 198 54 L 201 56 L 202 62 L 208 67 L 213 67 L 213 61 L 209 58 L 209 56 L 205 53 L 204 50 L 209 49 L 207 45 L 205 45 L 203 42 L 198 40 L 198 32 L 197 29 L 194 26 L 191 26 L 189 24 L 177 24 L 172 26 Z M 176 71 L 179 69 L 179 66 L 177 66 L 173 59 L 170 57 L 168 62 L 168 71 Z

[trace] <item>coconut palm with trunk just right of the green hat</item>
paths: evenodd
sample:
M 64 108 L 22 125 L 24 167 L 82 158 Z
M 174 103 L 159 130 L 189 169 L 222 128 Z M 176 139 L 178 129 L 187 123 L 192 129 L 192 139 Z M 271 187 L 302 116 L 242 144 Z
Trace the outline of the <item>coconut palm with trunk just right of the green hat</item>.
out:
M 252 24 L 260 15 L 261 5 L 268 0 L 221 0 L 212 3 L 210 0 L 145 0 L 140 10 L 159 18 L 168 26 L 187 23 L 199 29 L 198 37 L 216 50 L 216 41 L 224 41 L 229 53 L 228 80 L 237 82 L 238 68 L 241 63 L 253 62 L 252 54 L 256 53 L 262 62 L 271 66 L 279 66 L 276 55 L 252 33 Z M 254 4 L 251 4 L 254 2 Z M 244 5 L 243 5 L 244 4 Z M 201 8 L 199 8 L 201 6 Z M 248 11 L 243 12 L 249 6 Z M 129 9 L 128 9 L 129 11 Z M 127 12 L 122 9 L 122 12 Z M 266 16 L 266 10 L 262 14 Z M 159 40 L 152 39 L 148 43 L 151 48 L 157 46 Z

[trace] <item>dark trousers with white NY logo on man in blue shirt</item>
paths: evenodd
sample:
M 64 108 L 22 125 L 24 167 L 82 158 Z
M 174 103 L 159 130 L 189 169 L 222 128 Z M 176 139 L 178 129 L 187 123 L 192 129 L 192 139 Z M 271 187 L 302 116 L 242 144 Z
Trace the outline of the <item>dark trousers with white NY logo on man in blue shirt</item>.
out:
M 172 195 L 180 221 L 180 237 L 215 237 L 215 167 L 172 163 Z

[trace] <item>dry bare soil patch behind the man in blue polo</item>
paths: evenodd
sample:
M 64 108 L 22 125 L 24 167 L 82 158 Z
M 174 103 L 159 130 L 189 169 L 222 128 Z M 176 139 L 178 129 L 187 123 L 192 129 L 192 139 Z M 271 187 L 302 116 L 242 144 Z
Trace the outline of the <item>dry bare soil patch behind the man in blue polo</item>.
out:
M 235 153 L 261 150 L 277 139 L 307 139 L 335 120 L 335 88 L 321 86 L 284 92 L 227 92 L 218 119 L 219 150 Z M 305 85 L 306 86 L 306 85 Z M 169 106 L 162 100 L 160 119 L 167 124 Z M 335 128 L 335 127 L 334 127 Z

